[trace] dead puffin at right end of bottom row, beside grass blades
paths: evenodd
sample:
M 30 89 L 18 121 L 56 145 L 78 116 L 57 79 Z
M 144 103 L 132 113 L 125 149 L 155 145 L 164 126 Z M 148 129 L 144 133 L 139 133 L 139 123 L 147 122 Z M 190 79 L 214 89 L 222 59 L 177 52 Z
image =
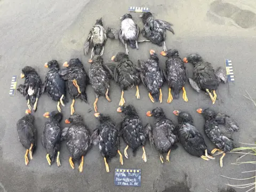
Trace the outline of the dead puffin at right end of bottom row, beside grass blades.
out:
M 222 154 L 220 158 L 220 166 L 223 166 L 222 159 L 227 152 L 236 147 L 232 134 L 239 130 L 236 121 L 228 115 L 215 113 L 211 109 L 197 109 L 197 113 L 202 114 L 206 120 L 204 131 L 207 137 L 217 146 L 212 150 L 214 154 L 217 150 Z

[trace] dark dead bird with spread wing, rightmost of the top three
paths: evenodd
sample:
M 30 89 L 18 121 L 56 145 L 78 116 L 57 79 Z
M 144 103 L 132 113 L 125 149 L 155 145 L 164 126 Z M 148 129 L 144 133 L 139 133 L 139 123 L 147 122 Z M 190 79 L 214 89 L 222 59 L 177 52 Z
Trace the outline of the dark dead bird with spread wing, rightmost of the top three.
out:
M 154 19 L 153 14 L 150 12 L 145 12 L 140 15 L 143 22 L 143 29 L 141 34 L 143 37 L 149 39 L 152 43 L 162 46 L 163 51 L 166 51 L 165 39 L 166 39 L 166 30 L 171 31 L 174 34 L 174 31 L 171 26 L 171 23 Z

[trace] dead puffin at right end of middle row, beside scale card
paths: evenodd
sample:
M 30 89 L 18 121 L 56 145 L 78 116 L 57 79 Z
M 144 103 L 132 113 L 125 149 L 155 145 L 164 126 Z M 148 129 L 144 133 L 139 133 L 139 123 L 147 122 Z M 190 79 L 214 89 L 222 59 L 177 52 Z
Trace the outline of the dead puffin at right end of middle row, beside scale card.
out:
M 194 65 L 194 78 L 189 78 L 190 85 L 197 92 L 199 92 L 199 90 L 206 91 L 211 97 L 212 104 L 214 104 L 217 99 L 215 90 L 217 90 L 220 82 L 224 81 L 226 78 L 225 70 L 220 67 L 215 71 L 211 63 L 203 61 L 202 57 L 197 53 L 188 55 L 183 61 L 186 63 L 190 62 Z M 213 96 L 211 91 L 213 92 Z

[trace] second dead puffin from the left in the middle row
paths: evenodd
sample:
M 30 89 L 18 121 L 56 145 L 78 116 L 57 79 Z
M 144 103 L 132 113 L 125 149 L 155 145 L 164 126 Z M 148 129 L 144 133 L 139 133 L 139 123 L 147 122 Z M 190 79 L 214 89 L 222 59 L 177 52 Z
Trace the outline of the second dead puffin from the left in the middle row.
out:
M 46 62 L 44 67 L 50 70 L 46 74 L 42 92 L 47 92 L 48 96 L 52 98 L 53 101 L 58 102 L 57 109 L 61 112 L 60 104 L 65 107 L 65 103 L 68 100 L 66 98 L 65 80 L 59 74 L 59 63 L 56 60 L 51 60 Z

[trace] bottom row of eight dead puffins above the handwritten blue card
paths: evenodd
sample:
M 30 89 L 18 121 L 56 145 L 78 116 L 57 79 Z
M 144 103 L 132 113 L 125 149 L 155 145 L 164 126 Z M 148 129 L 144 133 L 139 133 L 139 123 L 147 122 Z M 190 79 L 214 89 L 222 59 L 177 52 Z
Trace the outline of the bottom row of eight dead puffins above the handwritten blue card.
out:
M 81 161 L 78 169 L 79 172 L 82 172 L 85 155 L 92 145 L 98 145 L 105 162 L 106 171 L 109 172 L 108 162 L 117 154 L 119 154 L 119 162 L 123 165 L 123 156 L 119 148 L 119 137 L 122 137 L 127 145 L 124 149 L 126 158 L 128 158 L 127 149 L 129 147 L 132 149 L 133 155 L 139 147 L 142 147 L 142 159 L 147 162 L 145 145 L 147 138 L 149 138 L 151 146 L 158 150 L 162 163 L 164 163 L 163 154 L 167 153 L 166 161 L 169 162 L 171 150 L 177 148 L 175 143 L 180 142 L 190 155 L 201 157 L 206 161 L 214 159 L 211 154 L 219 151 L 218 154 L 222 154 L 220 158 L 220 166 L 222 167 L 223 157 L 235 147 L 232 135 L 239 130 L 237 123 L 228 115 L 215 113 L 211 109 L 197 109 L 197 112 L 203 114 L 206 120 L 204 125 L 205 134 L 217 147 L 209 151 L 203 135 L 195 127 L 192 116 L 187 112 L 173 111 L 179 122 L 175 126 L 172 120 L 166 117 L 163 109 L 157 107 L 146 113 L 149 117 L 155 117 L 154 125 L 147 124 L 144 127 L 132 105 L 118 107 L 117 112 L 124 114 L 122 122 L 118 124 L 113 122 L 106 114 L 95 113 L 94 116 L 98 118 L 99 125 L 92 134 L 90 134 L 81 115 L 71 115 L 65 121 L 70 126 L 61 129 L 62 113 L 58 111 L 45 113 L 43 116 L 47 120 L 43 126 L 41 142 L 46 149 L 46 159 L 49 165 L 52 165 L 55 156 L 57 156 L 56 162 L 60 166 L 60 142 L 65 141 L 70 152 L 69 164 L 72 169 L 75 167 L 74 161 Z M 27 149 L 25 154 L 26 165 L 29 163 L 28 154 L 30 159 L 33 159 L 33 153 L 37 145 L 34 119 L 35 117 L 31 115 L 31 111 L 27 109 L 26 115 L 17 122 L 19 140 Z

